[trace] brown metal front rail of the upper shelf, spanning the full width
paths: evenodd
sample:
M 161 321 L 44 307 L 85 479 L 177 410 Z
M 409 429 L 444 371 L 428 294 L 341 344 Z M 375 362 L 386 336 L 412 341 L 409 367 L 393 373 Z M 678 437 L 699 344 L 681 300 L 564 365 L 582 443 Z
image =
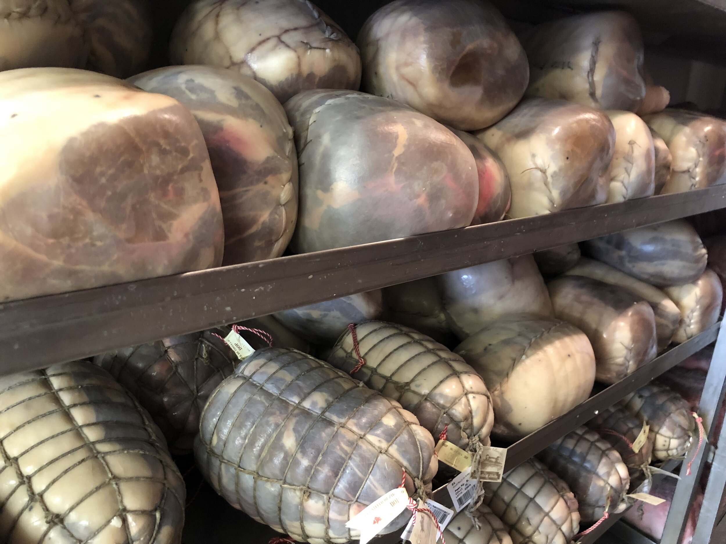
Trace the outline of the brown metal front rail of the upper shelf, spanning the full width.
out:
M 726 207 L 726 185 L 0 305 L 0 375 Z

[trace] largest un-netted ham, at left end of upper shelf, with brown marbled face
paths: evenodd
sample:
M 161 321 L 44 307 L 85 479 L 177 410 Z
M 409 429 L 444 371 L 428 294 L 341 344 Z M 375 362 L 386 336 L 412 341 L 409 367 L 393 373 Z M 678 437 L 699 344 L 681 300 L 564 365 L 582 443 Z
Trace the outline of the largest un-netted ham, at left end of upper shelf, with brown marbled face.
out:
M 67 68 L 0 73 L 0 300 L 221 264 L 209 154 L 176 100 Z

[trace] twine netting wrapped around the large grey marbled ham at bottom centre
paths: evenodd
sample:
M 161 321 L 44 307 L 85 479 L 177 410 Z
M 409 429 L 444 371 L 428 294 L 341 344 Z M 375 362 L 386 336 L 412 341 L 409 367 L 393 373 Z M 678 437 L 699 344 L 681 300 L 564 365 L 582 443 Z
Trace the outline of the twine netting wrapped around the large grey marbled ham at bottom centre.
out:
M 262 359 L 266 360 L 266 362 L 264 364 L 261 364 L 260 366 L 257 366 L 257 363 Z M 301 363 L 303 366 L 306 366 L 306 368 L 303 371 L 295 371 L 294 367 Z M 235 437 L 236 440 L 240 440 L 239 454 L 234 459 L 226 458 L 225 456 L 221 456 L 216 453 L 216 451 L 210 447 L 210 444 L 205 441 L 204 436 L 201 436 L 201 439 L 204 442 L 203 447 L 205 448 L 208 459 L 208 466 L 206 467 L 208 474 L 213 474 L 213 472 L 216 471 L 216 481 L 222 482 L 223 467 L 227 466 L 229 469 L 232 469 L 235 474 L 234 490 L 227 490 L 227 492 L 233 492 L 234 495 L 240 498 L 240 503 L 243 502 L 241 500 L 242 490 L 240 490 L 240 474 L 248 475 L 253 478 L 253 490 L 251 493 L 250 505 L 252 511 L 247 511 L 247 509 L 245 509 L 245 511 L 247 511 L 250 516 L 258 519 L 258 521 L 270 524 L 275 529 L 280 530 L 280 532 L 284 532 L 287 535 L 290 535 L 296 540 L 308 541 L 311 538 L 311 535 L 309 535 L 309 532 L 306 530 L 305 527 L 306 520 L 303 518 L 303 514 L 305 513 L 303 505 L 297 505 L 298 519 L 296 520 L 296 522 L 298 522 L 299 524 L 299 531 L 295 526 L 290 524 L 290 520 L 284 519 L 282 515 L 283 490 L 303 490 L 303 494 L 306 495 L 308 499 L 310 499 L 312 495 L 317 495 L 317 497 L 322 499 L 325 503 L 325 513 L 323 514 L 323 519 L 325 522 L 325 537 L 320 538 L 313 536 L 313 538 L 319 538 L 319 540 L 330 543 L 338 540 L 352 540 L 353 536 L 351 535 L 350 529 L 345 529 L 346 534 L 343 537 L 336 537 L 335 535 L 331 535 L 330 508 L 333 501 L 335 500 L 336 502 L 343 503 L 347 506 L 349 515 L 351 506 L 358 503 L 359 497 L 364 490 L 364 486 L 367 484 L 367 480 L 370 477 L 373 469 L 375 469 L 376 464 L 378 463 L 378 458 L 380 456 L 386 456 L 386 458 L 395 463 L 395 466 L 400 467 L 401 472 L 405 471 L 408 474 L 409 479 L 411 479 L 413 482 L 412 487 L 415 488 L 416 492 L 414 496 L 423 498 L 423 496 L 425 495 L 423 478 L 427 467 L 424 465 L 423 454 L 420 450 L 420 445 L 418 445 L 419 449 L 417 451 L 417 459 L 415 459 L 418 465 L 417 467 L 402 466 L 401 460 L 393 456 L 390 451 L 390 448 L 394 444 L 394 442 L 396 442 L 396 440 L 398 440 L 399 437 L 401 437 L 405 432 L 409 431 L 409 427 L 411 426 L 411 423 L 409 421 L 405 421 L 401 417 L 401 423 L 399 424 L 399 428 L 396 430 L 396 433 L 393 434 L 389 438 L 389 440 L 383 445 L 373 442 L 372 437 L 368 436 L 366 432 L 358 432 L 356 429 L 353 429 L 351 427 L 351 420 L 356 418 L 360 411 L 368 409 L 367 405 L 370 404 L 370 400 L 383 400 L 383 397 L 380 396 L 378 392 L 367 390 L 367 388 L 361 388 L 358 382 L 355 382 L 353 379 L 351 379 L 350 376 L 344 374 L 342 371 L 338 371 L 337 369 L 328 366 L 327 363 L 322 363 L 321 361 L 311 359 L 309 355 L 297 352 L 295 350 L 282 350 L 280 348 L 266 348 L 263 350 L 258 350 L 258 353 L 256 353 L 255 356 L 245 360 L 245 365 L 254 365 L 256 366 L 256 368 L 254 368 L 249 376 L 244 376 L 242 375 L 244 373 L 244 368 L 240 367 L 237 371 L 237 374 L 230 377 L 227 382 L 225 382 L 225 384 L 231 384 L 230 387 L 234 387 L 234 392 L 232 392 L 232 394 L 230 394 L 229 397 L 224 401 L 224 407 L 220 411 L 221 416 L 217 419 L 213 429 L 211 429 L 211 431 L 208 433 L 209 436 L 215 435 L 216 429 L 219 426 L 220 421 L 225 417 L 225 414 L 227 414 L 227 409 L 230 405 L 232 405 L 232 403 L 234 403 L 234 412 L 236 413 L 232 414 L 232 419 L 234 421 L 225 422 L 225 426 L 229 429 L 234 429 L 237 420 L 245 417 L 245 410 L 247 409 L 248 405 L 253 402 L 253 400 L 265 402 L 266 408 L 264 408 L 264 410 L 259 414 L 257 419 L 253 422 L 252 426 L 250 426 L 249 432 L 246 434 L 246 436 Z M 271 368 L 274 368 L 274 370 L 270 371 Z M 263 375 L 264 379 L 258 379 L 256 377 L 257 374 Z M 299 384 L 301 384 L 301 380 L 305 376 L 311 376 L 313 374 L 315 375 L 314 377 L 316 379 L 316 381 L 314 382 L 314 387 L 312 387 L 310 390 L 306 390 L 304 393 L 301 393 L 299 400 L 295 402 L 285 399 L 285 395 L 288 391 L 294 389 Z M 280 376 L 287 376 L 287 382 L 284 384 L 284 386 L 281 387 L 280 392 L 272 392 L 266 389 L 271 380 L 274 379 L 276 376 L 278 378 L 280 378 Z M 292 379 L 289 379 L 290 376 L 294 377 Z M 285 380 L 286 378 L 282 379 Z M 339 392 L 336 395 L 327 397 L 325 399 L 324 405 L 317 405 L 317 408 L 310 408 L 308 405 L 306 405 L 307 403 L 309 403 L 312 395 L 317 395 L 317 400 L 322 402 L 320 395 L 325 395 L 326 387 L 330 386 L 333 383 L 337 384 Z M 253 389 L 245 391 L 244 386 L 246 384 L 253 384 Z M 224 388 L 224 384 L 222 387 Z M 333 388 L 330 389 L 333 390 Z M 333 407 L 333 405 L 348 400 L 348 398 L 346 397 L 350 397 L 351 395 L 361 395 L 361 392 L 363 392 L 365 395 L 363 402 L 359 402 L 356 408 L 350 411 L 350 413 L 348 413 L 345 418 L 336 420 L 327 415 L 327 411 L 329 411 L 329 409 Z M 217 394 L 219 394 L 219 390 L 218 392 L 216 392 L 215 395 Z M 247 395 L 247 397 L 244 398 L 242 395 Z M 256 432 L 258 426 L 265 426 L 266 424 L 269 424 L 269 421 L 266 421 L 265 417 L 266 414 L 272 409 L 272 406 L 275 404 L 276 400 L 282 400 L 282 402 L 286 403 L 287 415 L 280 421 L 275 422 L 276 429 L 272 433 L 272 436 L 266 440 L 266 445 L 263 450 L 256 453 L 256 464 L 254 468 L 245 469 L 241 466 L 242 458 L 243 456 L 245 456 L 246 448 L 250 444 L 250 439 L 253 437 L 253 434 Z M 386 408 L 385 411 L 375 417 L 375 419 L 367 421 L 367 428 L 369 430 L 380 424 L 388 416 L 391 416 L 391 414 L 397 413 L 399 411 L 399 408 L 391 405 L 388 400 L 385 400 L 385 402 L 388 405 L 388 408 Z M 301 436 L 299 437 L 295 437 L 295 450 L 290 453 L 290 460 L 285 466 L 282 478 L 280 479 L 262 476 L 261 463 L 269 452 L 269 448 L 272 448 L 272 445 L 274 444 L 277 435 L 281 432 L 284 432 L 285 424 L 287 423 L 287 421 L 295 416 L 299 411 L 306 412 L 309 416 L 311 416 L 312 419 L 306 422 L 303 434 L 301 434 Z M 306 442 L 308 442 L 309 440 L 316 440 L 316 437 L 312 435 L 311 432 L 320 422 L 326 424 L 327 426 L 332 426 L 332 432 L 330 432 L 330 436 L 327 438 L 327 440 L 323 442 L 322 448 L 320 449 L 320 453 L 317 458 L 306 459 L 306 463 L 309 467 L 307 470 L 306 482 L 303 482 L 302 485 L 296 485 L 287 482 L 287 478 L 290 475 L 290 469 L 293 466 L 293 461 L 298 461 L 298 454 L 302 455 L 301 450 L 306 445 Z M 327 487 L 329 488 L 327 490 L 327 493 L 322 493 L 319 490 L 314 490 L 311 487 L 311 479 L 313 478 L 315 470 L 317 469 L 319 464 L 325 461 L 325 453 L 327 452 L 327 450 L 329 450 L 330 448 L 337 448 L 338 445 L 342 443 L 340 442 L 339 433 L 343 430 L 348 436 L 354 437 L 355 444 L 352 447 L 343 450 L 345 455 L 340 463 L 342 466 L 348 466 L 351 463 L 351 457 L 354 455 L 354 453 L 356 453 L 356 448 L 369 448 L 369 450 L 371 450 L 375 454 L 375 457 L 372 458 L 368 466 L 356 466 L 356 472 L 360 475 L 360 482 L 356 493 L 354 493 L 354 496 L 352 496 L 351 498 L 345 498 L 340 495 L 336 495 L 335 493 L 336 487 L 338 487 L 340 479 L 344 476 L 349 477 L 348 473 L 346 473 L 346 471 L 344 470 L 339 471 L 335 478 L 331 479 L 330 482 L 327 482 Z M 380 439 L 380 437 L 378 438 Z M 227 434 L 227 436 L 224 437 L 224 442 L 221 445 L 222 451 L 227 449 L 227 440 L 229 439 L 230 435 Z M 216 462 L 216 466 L 212 466 L 212 461 Z M 394 487 L 399 487 L 401 482 L 401 472 L 398 473 L 396 479 L 391 479 L 391 482 L 378 482 L 379 485 L 382 488 L 387 488 L 386 490 L 391 490 Z M 212 480 L 215 480 L 215 478 L 212 478 Z M 272 487 L 261 487 L 261 483 L 272 484 L 277 487 L 275 487 L 273 491 Z M 220 483 L 220 485 L 223 484 Z M 264 493 L 276 495 L 274 497 L 274 500 L 276 500 L 277 502 L 277 519 L 274 521 L 274 523 L 271 522 L 270 519 L 266 519 L 264 512 L 265 509 L 260 505 L 260 496 Z M 267 508 L 267 510 L 269 511 L 269 508 Z M 288 508 L 287 511 L 289 512 L 290 509 Z

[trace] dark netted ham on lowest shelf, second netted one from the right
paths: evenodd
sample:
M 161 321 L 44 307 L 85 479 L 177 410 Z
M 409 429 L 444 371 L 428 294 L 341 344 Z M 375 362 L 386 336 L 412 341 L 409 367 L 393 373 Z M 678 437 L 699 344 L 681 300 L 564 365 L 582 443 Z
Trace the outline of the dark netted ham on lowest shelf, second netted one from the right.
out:
M 653 436 L 648 433 L 643 447 L 637 453 L 632 444 L 643 430 L 640 421 L 624 408 L 611 406 L 605 408 L 586 424 L 591 430 L 600 434 L 620 454 L 630 474 L 630 487 L 635 489 L 643 482 L 643 467 L 650 464 L 653 456 Z

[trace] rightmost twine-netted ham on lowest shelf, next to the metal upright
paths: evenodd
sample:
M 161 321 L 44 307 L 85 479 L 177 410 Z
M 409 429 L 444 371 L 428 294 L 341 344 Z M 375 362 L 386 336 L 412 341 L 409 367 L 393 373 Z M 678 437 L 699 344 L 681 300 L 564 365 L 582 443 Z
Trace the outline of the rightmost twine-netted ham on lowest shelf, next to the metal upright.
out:
M 696 432 L 696 420 L 683 397 L 660 384 L 647 384 L 620 401 L 641 422 L 650 425 L 653 458 L 682 458 Z

